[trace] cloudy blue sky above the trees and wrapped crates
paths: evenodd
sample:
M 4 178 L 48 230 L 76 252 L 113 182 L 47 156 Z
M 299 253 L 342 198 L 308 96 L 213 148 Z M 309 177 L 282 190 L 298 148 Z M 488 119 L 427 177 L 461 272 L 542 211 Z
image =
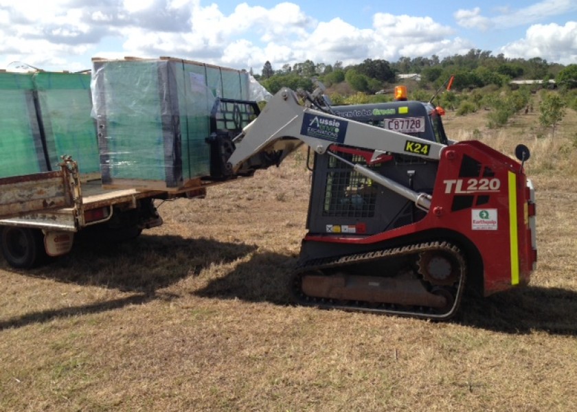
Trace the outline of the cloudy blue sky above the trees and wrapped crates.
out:
M 173 56 L 260 73 L 469 49 L 577 63 L 577 0 L 0 0 L 0 69 Z

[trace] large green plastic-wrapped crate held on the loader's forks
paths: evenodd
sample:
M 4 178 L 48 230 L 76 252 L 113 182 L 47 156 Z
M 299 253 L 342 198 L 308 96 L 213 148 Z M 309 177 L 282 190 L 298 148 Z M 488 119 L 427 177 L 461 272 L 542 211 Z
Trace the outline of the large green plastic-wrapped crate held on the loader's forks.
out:
M 202 63 L 95 60 L 91 87 L 102 183 L 179 188 L 208 176 L 210 111 L 216 97 L 242 96 L 235 73 L 236 90 L 229 90 L 220 68 Z

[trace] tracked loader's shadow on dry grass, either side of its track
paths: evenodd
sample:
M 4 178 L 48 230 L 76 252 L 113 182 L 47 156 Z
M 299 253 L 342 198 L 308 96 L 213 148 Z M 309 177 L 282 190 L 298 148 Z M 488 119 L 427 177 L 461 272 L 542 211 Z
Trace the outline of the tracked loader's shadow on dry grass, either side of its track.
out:
M 234 271 L 194 294 L 290 305 L 288 290 L 296 261 L 278 253 L 256 253 L 249 262 L 238 264 Z M 466 295 L 451 322 L 511 334 L 577 335 L 577 292 L 530 286 L 486 298 Z

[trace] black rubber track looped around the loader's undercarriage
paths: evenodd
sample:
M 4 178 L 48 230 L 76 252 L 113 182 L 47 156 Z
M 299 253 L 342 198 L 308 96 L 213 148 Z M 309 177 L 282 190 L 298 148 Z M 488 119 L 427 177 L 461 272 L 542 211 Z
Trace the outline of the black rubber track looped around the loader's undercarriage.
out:
M 401 258 L 407 255 L 415 254 L 418 258 L 419 253 L 427 251 L 444 251 L 453 255 L 455 260 L 460 263 L 461 275 L 460 279 L 455 282 L 456 290 L 453 293 L 454 304 L 451 310 L 446 313 L 435 313 L 434 310 L 421 306 L 396 306 L 393 304 L 374 304 L 365 301 L 337 301 L 335 299 L 308 297 L 302 293 L 300 288 L 300 279 L 304 273 L 311 271 L 324 271 L 329 268 L 339 268 L 351 264 L 360 264 L 372 262 L 374 260 Z M 293 273 L 292 292 L 297 300 L 297 304 L 302 306 L 317 306 L 319 308 L 337 308 L 343 310 L 354 310 L 360 312 L 375 312 L 383 314 L 397 314 L 404 317 L 416 317 L 422 319 L 446 320 L 453 317 L 459 308 L 461 297 L 464 290 L 464 283 L 466 277 L 466 260 L 460 249 L 445 241 L 424 242 L 418 244 L 409 244 L 403 247 L 396 247 L 392 249 L 383 249 L 380 251 L 370 251 L 366 253 L 357 253 L 353 255 L 341 255 L 332 258 L 320 258 L 309 260 L 299 264 Z

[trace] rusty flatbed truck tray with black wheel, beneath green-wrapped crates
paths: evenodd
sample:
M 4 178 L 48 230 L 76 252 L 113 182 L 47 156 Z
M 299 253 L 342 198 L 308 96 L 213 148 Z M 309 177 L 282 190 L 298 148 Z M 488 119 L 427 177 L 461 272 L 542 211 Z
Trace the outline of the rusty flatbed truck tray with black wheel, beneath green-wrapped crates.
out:
M 64 157 L 60 170 L 0 179 L 0 250 L 14 268 L 32 268 L 46 256 L 72 249 L 76 234 L 94 228 L 121 241 L 162 225 L 155 199 L 201 197 L 206 188 L 168 192 L 106 188 L 100 179 L 82 181 L 78 163 Z

